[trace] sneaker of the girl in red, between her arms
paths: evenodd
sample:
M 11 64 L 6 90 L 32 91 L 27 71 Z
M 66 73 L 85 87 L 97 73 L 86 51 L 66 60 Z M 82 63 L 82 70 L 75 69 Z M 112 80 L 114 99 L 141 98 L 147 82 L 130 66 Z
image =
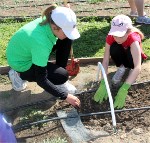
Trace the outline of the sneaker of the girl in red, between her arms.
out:
M 114 74 L 112 78 L 112 83 L 117 85 L 121 82 L 123 75 L 125 74 L 125 67 L 122 65 L 118 68 L 116 73 Z

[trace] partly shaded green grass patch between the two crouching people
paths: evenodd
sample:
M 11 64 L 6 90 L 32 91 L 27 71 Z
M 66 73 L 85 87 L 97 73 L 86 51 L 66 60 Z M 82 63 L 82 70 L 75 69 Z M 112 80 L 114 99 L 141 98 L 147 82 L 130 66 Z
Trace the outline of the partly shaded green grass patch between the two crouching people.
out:
M 78 28 L 81 37 L 74 41 L 74 54 L 76 57 L 98 57 L 104 52 L 105 37 L 109 30 L 109 23 L 89 21 L 79 22 Z

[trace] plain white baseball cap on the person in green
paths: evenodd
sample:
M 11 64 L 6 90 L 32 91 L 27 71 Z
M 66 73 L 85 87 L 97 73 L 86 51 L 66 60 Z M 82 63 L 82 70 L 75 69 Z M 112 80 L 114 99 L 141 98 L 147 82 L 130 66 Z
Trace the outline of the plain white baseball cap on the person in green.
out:
M 80 37 L 76 15 L 70 8 L 56 7 L 52 10 L 51 18 L 69 39 L 75 40 Z

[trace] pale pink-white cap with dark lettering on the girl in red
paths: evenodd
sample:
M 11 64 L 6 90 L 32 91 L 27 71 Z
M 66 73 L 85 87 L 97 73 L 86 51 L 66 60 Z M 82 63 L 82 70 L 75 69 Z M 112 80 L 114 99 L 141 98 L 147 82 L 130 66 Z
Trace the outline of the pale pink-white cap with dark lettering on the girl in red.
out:
M 127 30 L 131 29 L 132 27 L 132 21 L 128 16 L 123 14 L 117 15 L 112 19 L 111 29 L 108 35 L 123 37 Z

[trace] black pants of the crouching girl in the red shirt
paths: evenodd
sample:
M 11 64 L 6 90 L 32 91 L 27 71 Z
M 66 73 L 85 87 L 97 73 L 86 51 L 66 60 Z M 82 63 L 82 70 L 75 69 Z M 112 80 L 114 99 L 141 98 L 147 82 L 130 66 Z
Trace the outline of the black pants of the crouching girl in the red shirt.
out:
M 130 47 L 124 49 L 121 44 L 114 42 L 110 46 L 110 56 L 117 67 L 124 65 L 127 68 L 134 68 Z

